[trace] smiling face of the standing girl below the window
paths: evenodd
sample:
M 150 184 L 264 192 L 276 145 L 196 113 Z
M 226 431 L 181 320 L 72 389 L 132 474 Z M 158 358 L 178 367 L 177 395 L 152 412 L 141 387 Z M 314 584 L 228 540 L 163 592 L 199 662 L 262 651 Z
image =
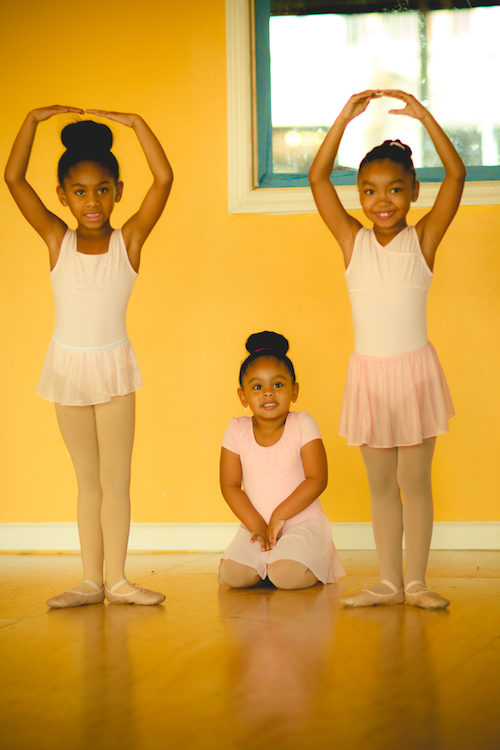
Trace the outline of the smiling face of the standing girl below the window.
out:
M 365 164 L 358 187 L 361 207 L 376 229 L 399 231 L 406 226 L 406 215 L 418 198 L 419 185 L 402 164 L 390 159 Z

